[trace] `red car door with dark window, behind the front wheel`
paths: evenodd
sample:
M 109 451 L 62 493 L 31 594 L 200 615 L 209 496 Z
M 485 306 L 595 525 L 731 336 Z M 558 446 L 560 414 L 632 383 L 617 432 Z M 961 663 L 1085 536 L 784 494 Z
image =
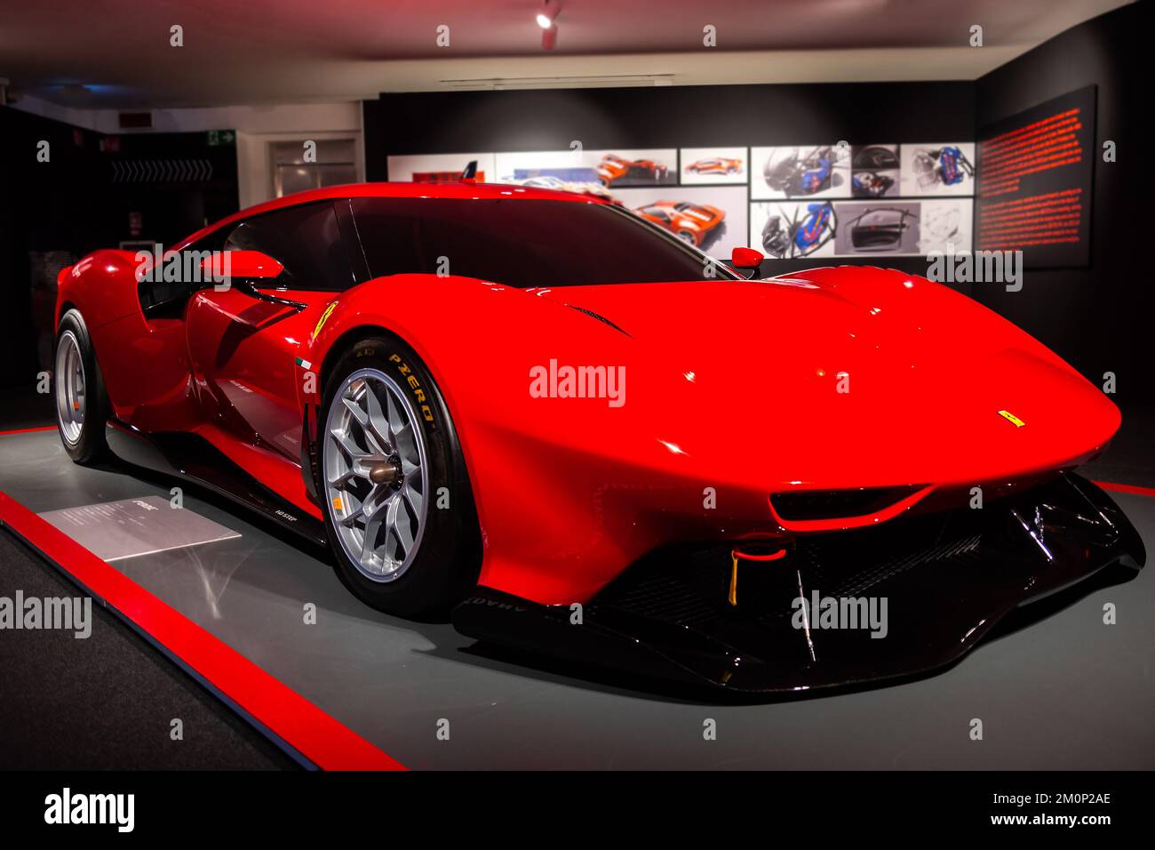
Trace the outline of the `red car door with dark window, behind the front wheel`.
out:
M 200 290 L 186 316 L 189 362 L 206 422 L 234 439 L 300 463 L 297 365 L 325 306 L 353 275 L 333 200 L 285 207 L 232 227 L 225 251 L 260 251 L 284 267 L 275 280 Z

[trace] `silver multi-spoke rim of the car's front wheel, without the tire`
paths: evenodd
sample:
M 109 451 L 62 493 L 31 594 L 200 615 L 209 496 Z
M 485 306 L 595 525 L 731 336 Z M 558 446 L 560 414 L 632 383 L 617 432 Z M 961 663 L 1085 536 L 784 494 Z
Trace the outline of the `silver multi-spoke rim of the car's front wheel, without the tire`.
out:
M 378 369 L 345 378 L 326 417 L 327 510 L 341 548 L 374 582 L 409 569 L 425 531 L 429 470 L 416 423 L 401 386 Z

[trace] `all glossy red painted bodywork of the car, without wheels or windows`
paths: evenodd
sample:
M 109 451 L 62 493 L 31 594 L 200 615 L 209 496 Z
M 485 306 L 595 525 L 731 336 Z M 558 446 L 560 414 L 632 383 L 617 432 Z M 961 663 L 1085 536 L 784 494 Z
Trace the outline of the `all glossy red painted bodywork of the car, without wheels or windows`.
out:
M 378 184 L 281 199 L 224 224 L 374 194 L 602 202 Z M 323 382 L 337 347 L 381 328 L 401 337 L 459 431 L 485 541 L 480 583 L 538 603 L 588 600 L 664 544 L 774 540 L 886 522 L 974 486 L 1013 488 L 1079 465 L 1119 424 L 1103 393 L 1022 331 L 895 271 L 559 289 L 398 274 L 341 294 L 295 290 L 301 310 L 209 288 L 184 318 L 150 321 L 113 258 L 77 269 L 85 263 L 60 303 L 99 317 L 89 326 L 117 415 L 146 433 L 201 434 L 312 516 L 295 439 L 315 394 L 295 361 Z M 620 369 L 624 404 L 536 398 L 531 370 L 551 361 Z M 768 503 L 863 487 L 917 490 L 836 520 L 787 523 Z

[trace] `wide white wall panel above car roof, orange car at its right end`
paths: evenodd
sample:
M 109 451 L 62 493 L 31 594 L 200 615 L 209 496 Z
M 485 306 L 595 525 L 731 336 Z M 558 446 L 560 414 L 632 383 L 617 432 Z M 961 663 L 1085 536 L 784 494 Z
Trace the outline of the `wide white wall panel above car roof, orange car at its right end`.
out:
M 512 183 L 553 177 L 562 182 L 596 180 L 606 189 L 672 186 L 678 183 L 676 148 L 619 150 L 537 150 L 495 155 L 495 178 Z

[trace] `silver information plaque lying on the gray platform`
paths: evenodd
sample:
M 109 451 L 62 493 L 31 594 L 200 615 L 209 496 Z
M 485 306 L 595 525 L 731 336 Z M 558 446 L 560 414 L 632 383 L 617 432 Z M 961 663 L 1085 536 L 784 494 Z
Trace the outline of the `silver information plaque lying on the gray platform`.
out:
M 240 537 L 239 532 L 159 496 L 62 508 L 45 511 L 40 517 L 110 562 Z

